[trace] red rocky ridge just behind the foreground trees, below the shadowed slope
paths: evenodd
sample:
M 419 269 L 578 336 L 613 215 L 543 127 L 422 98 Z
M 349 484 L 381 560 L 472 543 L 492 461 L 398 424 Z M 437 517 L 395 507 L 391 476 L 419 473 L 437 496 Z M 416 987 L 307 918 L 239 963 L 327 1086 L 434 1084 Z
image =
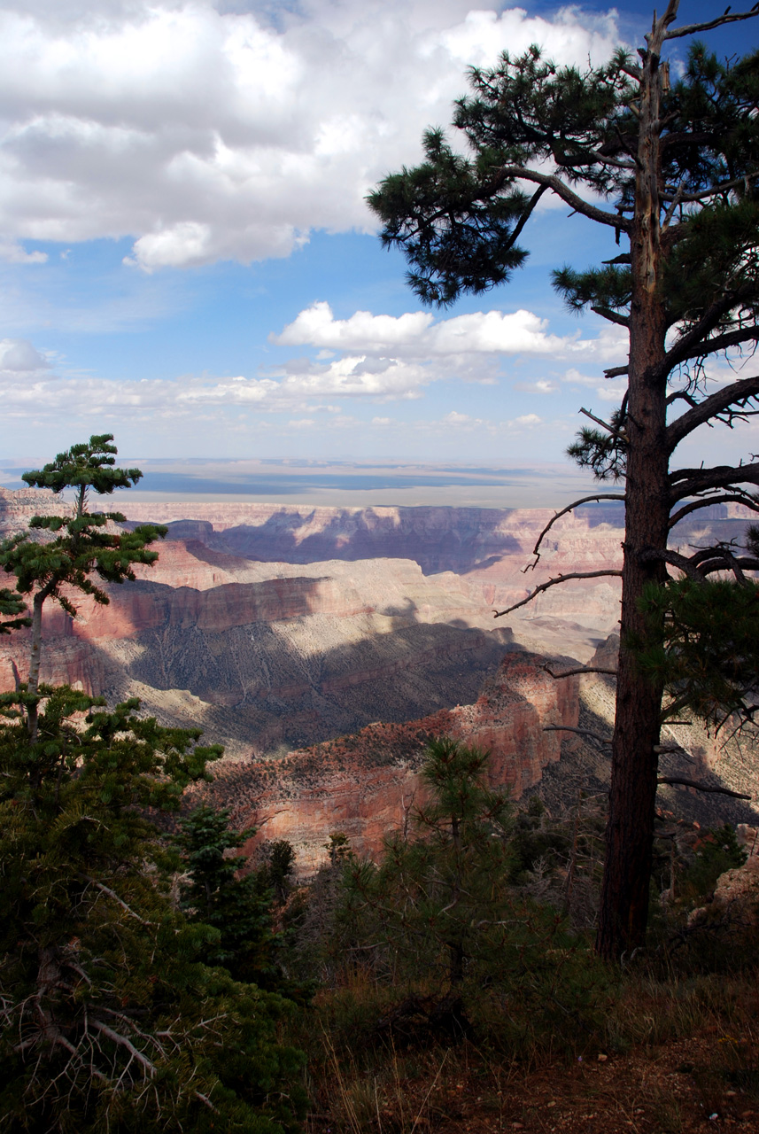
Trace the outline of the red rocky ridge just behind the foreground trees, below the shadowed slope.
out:
M 389 831 L 408 823 L 425 797 L 419 770 L 434 736 L 488 748 L 492 786 L 519 799 L 561 755 L 562 734 L 546 726 L 578 721 L 578 678 L 554 680 L 544 665 L 512 650 L 474 704 L 403 725 L 376 722 L 280 761 L 225 761 L 207 794 L 231 810 L 236 827 L 258 829 L 248 852 L 264 839 L 289 839 L 301 874 L 325 861 L 333 831 L 347 835 L 358 854 L 373 855 Z

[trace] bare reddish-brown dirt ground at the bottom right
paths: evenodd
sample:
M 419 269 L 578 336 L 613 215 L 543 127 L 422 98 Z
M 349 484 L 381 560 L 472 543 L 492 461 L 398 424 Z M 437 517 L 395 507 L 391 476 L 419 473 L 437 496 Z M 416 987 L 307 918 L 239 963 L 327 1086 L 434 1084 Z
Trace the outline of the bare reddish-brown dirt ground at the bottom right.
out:
M 476 1050 L 442 1050 L 413 1077 L 364 1084 L 357 1100 L 336 1078 L 309 1134 L 759 1134 L 759 1052 L 715 1031 L 625 1055 L 596 1052 L 525 1069 Z M 435 1070 L 435 1060 L 437 1070 Z M 373 1098 L 374 1095 L 374 1098 Z M 363 1106 L 358 1105 L 358 1101 Z

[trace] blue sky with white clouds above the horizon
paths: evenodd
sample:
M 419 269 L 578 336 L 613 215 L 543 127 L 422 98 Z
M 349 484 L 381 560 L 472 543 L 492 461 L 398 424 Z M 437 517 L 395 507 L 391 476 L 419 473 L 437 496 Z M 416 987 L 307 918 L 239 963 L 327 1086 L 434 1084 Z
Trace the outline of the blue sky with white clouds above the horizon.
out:
M 718 9 L 683 0 L 681 20 Z M 450 122 L 468 66 L 534 42 L 599 64 L 650 18 L 639 0 L 0 0 L 0 484 L 102 432 L 133 459 L 246 468 L 561 464 L 579 408 L 619 403 L 603 370 L 624 339 L 565 312 L 551 269 L 612 238 L 553 198 L 508 286 L 426 310 L 364 198 Z M 741 53 L 759 19 L 707 39 Z M 713 430 L 699 459 L 735 447 Z

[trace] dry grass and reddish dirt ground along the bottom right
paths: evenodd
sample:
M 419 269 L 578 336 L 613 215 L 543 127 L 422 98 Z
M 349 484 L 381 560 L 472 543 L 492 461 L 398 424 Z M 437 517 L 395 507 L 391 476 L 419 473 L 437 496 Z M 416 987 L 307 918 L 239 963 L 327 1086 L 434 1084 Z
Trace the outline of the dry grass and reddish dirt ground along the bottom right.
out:
M 535 1021 L 519 1050 L 487 1034 L 401 1048 L 372 1032 L 391 999 L 361 974 L 321 995 L 307 1134 L 759 1129 L 756 973 L 628 976 L 598 1033 L 578 1039 L 579 1055 L 568 1036 L 540 1036 Z

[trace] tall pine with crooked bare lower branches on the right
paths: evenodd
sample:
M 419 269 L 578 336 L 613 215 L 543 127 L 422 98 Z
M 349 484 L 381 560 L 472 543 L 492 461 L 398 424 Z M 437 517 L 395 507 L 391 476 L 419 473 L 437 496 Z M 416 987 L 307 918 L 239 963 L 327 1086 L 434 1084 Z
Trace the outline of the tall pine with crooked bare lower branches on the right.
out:
M 625 503 L 623 569 L 592 573 L 622 575 L 597 937 L 607 958 L 645 938 L 667 711 L 662 677 L 636 662 L 637 649 L 662 637 L 640 599 L 671 569 L 703 581 L 759 567 L 753 553 L 723 543 L 690 557 L 668 547 L 673 526 L 699 508 L 736 501 L 759 510 L 750 490 L 759 483 L 759 460 L 713 468 L 671 464 L 699 426 L 732 426 L 759 412 L 759 375 L 715 387 L 708 374 L 715 356 L 735 357 L 759 340 L 759 54 L 720 62 L 694 43 L 676 82 L 662 58 L 675 39 L 757 12 L 727 9 L 676 27 L 677 8 L 679 0 L 670 0 L 664 15 L 655 15 L 639 61 L 619 51 L 603 67 L 580 71 L 556 67 L 531 48 L 515 59 L 504 54 L 492 70 L 474 68 L 474 94 L 459 100 L 454 117 L 469 154 L 458 155 L 441 130 L 430 130 L 425 162 L 391 175 L 368 198 L 384 223 L 383 242 L 403 248 L 409 281 L 429 303 L 505 282 L 525 260 L 518 242 L 547 193 L 621 245 L 599 266 L 554 272 L 572 310 L 591 310 L 625 328 L 630 344 L 628 363 L 606 371 L 626 378 L 620 407 L 606 421 L 583 409 L 592 426 L 570 450 L 599 480 L 623 481 L 623 491 L 598 492 L 571 507 L 599 499 Z

